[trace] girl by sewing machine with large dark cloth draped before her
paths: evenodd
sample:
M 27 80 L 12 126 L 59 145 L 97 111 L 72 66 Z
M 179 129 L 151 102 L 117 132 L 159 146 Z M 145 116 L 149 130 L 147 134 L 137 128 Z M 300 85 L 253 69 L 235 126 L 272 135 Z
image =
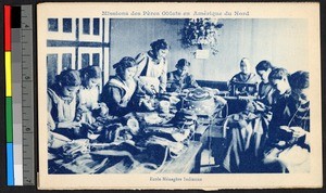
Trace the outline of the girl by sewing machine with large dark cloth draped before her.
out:
M 255 70 L 261 77 L 258 99 L 246 101 L 246 110 L 228 118 L 229 137 L 223 166 L 230 172 L 261 172 L 274 88 L 268 75 L 274 69 L 268 61 L 261 61 Z M 239 143 L 244 144 L 239 146 Z

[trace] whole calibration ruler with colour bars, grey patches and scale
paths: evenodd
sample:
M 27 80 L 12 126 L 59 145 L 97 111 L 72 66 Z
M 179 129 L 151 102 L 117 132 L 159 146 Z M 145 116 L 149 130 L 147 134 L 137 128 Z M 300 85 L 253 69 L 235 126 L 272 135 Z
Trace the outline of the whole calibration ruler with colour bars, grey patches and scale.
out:
M 4 5 L 8 185 L 35 184 L 33 5 Z

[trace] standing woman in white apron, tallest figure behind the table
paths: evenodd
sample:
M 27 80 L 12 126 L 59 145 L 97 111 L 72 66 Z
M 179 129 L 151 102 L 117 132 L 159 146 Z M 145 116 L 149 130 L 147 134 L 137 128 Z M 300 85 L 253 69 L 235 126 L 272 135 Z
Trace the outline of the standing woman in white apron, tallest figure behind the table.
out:
M 135 78 L 139 80 L 140 88 L 154 94 L 166 91 L 167 61 L 170 46 L 164 39 L 153 41 L 151 50 L 136 56 L 138 68 Z M 159 88 L 155 86 L 159 82 Z

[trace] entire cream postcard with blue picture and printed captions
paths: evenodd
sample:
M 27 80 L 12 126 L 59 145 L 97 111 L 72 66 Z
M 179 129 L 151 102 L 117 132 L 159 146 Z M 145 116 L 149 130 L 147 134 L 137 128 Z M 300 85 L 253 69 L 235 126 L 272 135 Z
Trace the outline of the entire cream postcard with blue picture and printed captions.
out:
M 39 189 L 319 188 L 318 3 L 39 3 Z

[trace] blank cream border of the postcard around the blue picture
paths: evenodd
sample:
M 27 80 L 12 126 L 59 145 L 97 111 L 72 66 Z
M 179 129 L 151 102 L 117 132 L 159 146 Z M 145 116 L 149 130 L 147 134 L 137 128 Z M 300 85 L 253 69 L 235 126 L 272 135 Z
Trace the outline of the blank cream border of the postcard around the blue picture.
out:
M 66 11 L 68 8 L 68 12 Z M 122 17 L 102 15 L 102 11 L 249 11 L 249 16 L 218 18 L 306 18 L 309 20 L 309 69 L 311 99 L 311 172 L 310 173 L 228 173 L 228 175 L 48 175 L 47 119 L 39 117 L 39 189 L 262 189 L 319 188 L 323 185 L 322 113 L 321 113 L 321 46 L 318 3 L 40 3 L 37 7 L 38 26 L 38 114 L 47 114 L 47 68 L 45 50 L 48 17 Z M 123 16 L 126 18 L 173 18 L 189 15 Z M 201 181 L 150 181 L 150 177 L 200 178 Z

